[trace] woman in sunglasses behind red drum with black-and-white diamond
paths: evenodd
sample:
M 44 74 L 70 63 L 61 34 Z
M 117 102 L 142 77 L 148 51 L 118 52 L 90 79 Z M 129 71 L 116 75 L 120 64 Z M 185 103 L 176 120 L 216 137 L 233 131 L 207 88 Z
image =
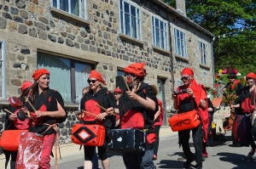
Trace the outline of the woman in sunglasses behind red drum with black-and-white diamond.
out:
M 86 110 L 94 115 L 82 114 L 79 115 L 79 119 L 84 124 L 98 124 L 105 127 L 105 141 L 102 146 L 98 146 L 98 155 L 102 161 L 102 166 L 104 169 L 109 169 L 109 159 L 107 154 L 107 144 L 108 144 L 108 131 L 114 127 L 115 116 L 113 115 L 113 108 L 116 107 L 116 102 L 113 97 L 113 93 L 108 92 L 108 88 L 102 87 L 101 83 L 106 85 L 103 80 L 102 75 L 96 70 L 90 71 L 90 76 L 88 78 L 88 83 L 90 85 L 90 91 L 84 94 L 81 99 L 81 110 Z M 107 111 L 102 110 L 97 107 L 99 104 Z M 84 169 L 92 169 L 92 159 L 94 155 L 93 146 L 84 145 Z

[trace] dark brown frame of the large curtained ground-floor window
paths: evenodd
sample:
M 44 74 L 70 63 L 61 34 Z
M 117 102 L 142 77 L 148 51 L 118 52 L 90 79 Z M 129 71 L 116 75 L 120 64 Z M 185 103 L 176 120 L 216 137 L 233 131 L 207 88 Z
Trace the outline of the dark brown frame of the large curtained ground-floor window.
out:
M 77 59 L 71 59 L 70 57 L 63 57 L 62 55 L 58 55 L 58 54 L 51 54 L 51 53 L 44 53 L 44 52 L 38 52 L 40 54 L 48 54 L 51 55 L 52 57 L 58 57 L 58 58 L 63 58 L 63 59 L 69 59 L 70 60 L 70 82 L 71 82 L 71 87 L 70 90 L 70 97 L 71 97 L 71 102 L 66 102 L 64 101 L 64 103 L 67 104 L 79 104 L 79 100 L 76 100 L 77 96 L 76 96 L 76 84 L 75 84 L 75 64 L 84 64 L 84 65 L 89 65 L 90 66 L 90 70 L 95 70 L 96 65 L 89 63 L 89 62 L 83 62 L 81 60 L 77 60 Z M 38 64 L 37 63 L 37 68 L 38 68 Z M 85 87 L 86 85 L 84 85 Z M 87 84 L 87 86 L 89 86 L 89 84 Z M 82 92 L 82 91 L 81 91 Z

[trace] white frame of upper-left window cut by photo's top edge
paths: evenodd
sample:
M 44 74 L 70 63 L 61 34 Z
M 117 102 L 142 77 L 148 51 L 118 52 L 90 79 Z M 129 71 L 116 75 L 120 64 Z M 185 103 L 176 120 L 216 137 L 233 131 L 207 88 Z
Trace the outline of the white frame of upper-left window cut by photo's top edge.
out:
M 53 5 L 53 1 L 54 0 L 51 0 L 50 1 L 50 6 L 52 7 L 52 8 L 55 8 L 54 7 L 54 5 Z M 65 12 L 65 13 L 67 13 L 67 14 L 72 14 L 71 13 L 71 2 L 72 2 L 72 0 L 68 0 L 68 12 L 67 11 L 65 11 L 65 10 L 62 10 L 61 8 L 60 8 L 60 0 L 56 0 L 56 3 L 57 3 L 57 8 L 56 9 L 58 9 L 58 10 L 61 10 L 62 12 Z M 82 5 L 81 5 L 82 3 L 81 3 L 81 1 L 79 0 L 79 16 L 78 15 L 76 15 L 76 14 L 72 14 L 73 16 L 77 16 L 77 17 L 79 17 L 79 18 L 81 18 L 81 19 L 84 19 L 84 20 L 87 20 L 87 0 L 84 0 L 84 18 L 82 17 L 83 16 L 83 13 L 82 13 Z

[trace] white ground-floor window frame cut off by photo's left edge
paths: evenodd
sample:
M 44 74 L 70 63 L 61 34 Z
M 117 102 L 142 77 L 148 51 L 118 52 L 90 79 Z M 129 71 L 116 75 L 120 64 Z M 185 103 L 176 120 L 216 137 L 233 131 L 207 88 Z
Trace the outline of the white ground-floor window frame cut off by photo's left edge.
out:
M 6 90 L 5 90 L 5 83 L 6 83 L 6 78 L 5 78 L 5 41 L 3 39 L 0 38 L 0 43 L 1 43 L 1 46 L 2 46 L 2 50 L 0 51 L 2 53 L 2 59 L 1 60 L 1 68 L 2 69 L 2 93 L 0 96 L 0 99 L 6 99 Z

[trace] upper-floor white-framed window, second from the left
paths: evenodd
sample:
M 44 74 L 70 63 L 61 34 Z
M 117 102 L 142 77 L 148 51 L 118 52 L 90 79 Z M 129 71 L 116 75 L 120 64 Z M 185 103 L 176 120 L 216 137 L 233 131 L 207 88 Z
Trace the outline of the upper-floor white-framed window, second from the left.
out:
M 121 33 L 141 40 L 140 9 L 126 0 L 120 0 Z

